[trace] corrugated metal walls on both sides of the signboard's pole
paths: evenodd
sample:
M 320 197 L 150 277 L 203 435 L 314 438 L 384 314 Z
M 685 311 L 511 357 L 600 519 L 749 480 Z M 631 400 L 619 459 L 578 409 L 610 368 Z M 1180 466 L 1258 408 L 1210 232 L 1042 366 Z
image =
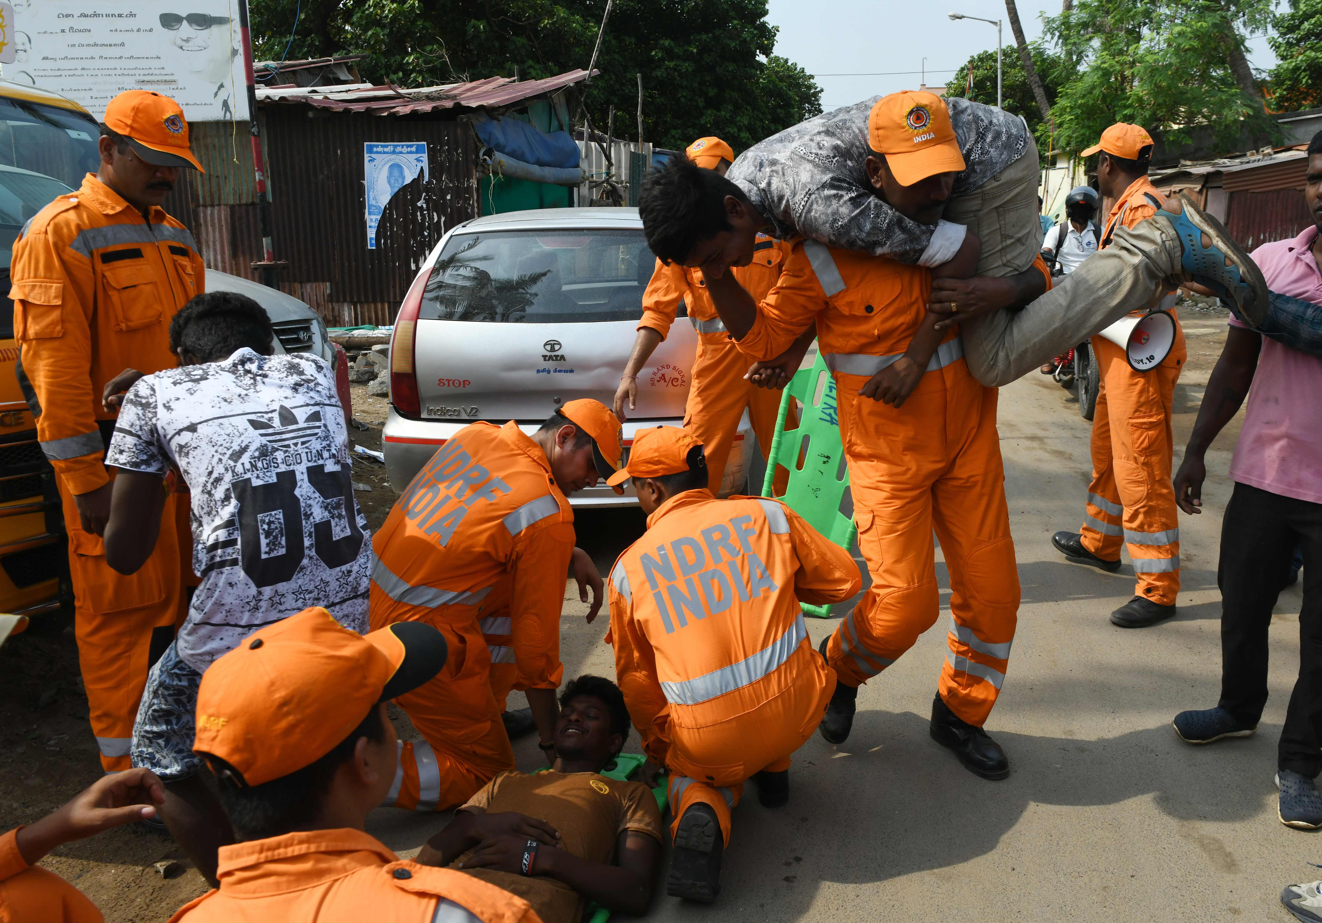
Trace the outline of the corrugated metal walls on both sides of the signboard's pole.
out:
M 263 107 L 263 155 L 272 193 L 280 288 L 330 325 L 389 324 L 418 267 L 449 227 L 480 214 L 473 143 L 452 118 L 316 112 Z M 189 171 L 164 206 L 192 229 L 209 268 L 258 279 L 262 231 L 247 123 L 198 123 Z M 430 180 L 390 200 L 368 250 L 362 145 L 427 141 Z

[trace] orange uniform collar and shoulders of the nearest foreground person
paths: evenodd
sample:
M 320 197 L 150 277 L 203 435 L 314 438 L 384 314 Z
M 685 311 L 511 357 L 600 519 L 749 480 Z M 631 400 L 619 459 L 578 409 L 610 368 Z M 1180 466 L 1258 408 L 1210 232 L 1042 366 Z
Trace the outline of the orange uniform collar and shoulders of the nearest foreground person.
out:
M 219 889 L 171 923 L 371 920 L 541 923 L 522 898 L 449 869 L 398 858 L 362 830 L 287 833 L 221 846 Z

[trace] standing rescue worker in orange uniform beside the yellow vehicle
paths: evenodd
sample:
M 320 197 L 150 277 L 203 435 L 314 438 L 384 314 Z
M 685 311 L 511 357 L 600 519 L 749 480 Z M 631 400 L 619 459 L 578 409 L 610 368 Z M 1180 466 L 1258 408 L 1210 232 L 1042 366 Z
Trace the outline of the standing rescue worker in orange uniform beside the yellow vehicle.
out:
M 102 463 L 115 411 L 103 389 L 124 369 L 172 369 L 169 324 L 204 290 L 193 235 L 160 204 L 181 168 L 202 169 L 169 97 L 128 90 L 110 100 L 100 167 L 28 222 L 11 275 L 19 378 L 37 439 L 56 469 L 69 532 L 74 632 L 93 734 L 107 772 L 130 768 L 147 670 L 181 616 L 176 497 L 141 570 L 106 565 L 111 476 Z

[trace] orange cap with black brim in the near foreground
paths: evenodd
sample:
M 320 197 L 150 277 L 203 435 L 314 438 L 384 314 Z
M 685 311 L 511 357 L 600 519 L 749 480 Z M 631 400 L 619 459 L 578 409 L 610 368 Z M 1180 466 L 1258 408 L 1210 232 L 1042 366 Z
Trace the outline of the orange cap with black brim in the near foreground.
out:
M 320 606 L 267 625 L 212 664 L 197 690 L 193 750 L 260 785 L 334 750 L 368 713 L 446 665 L 446 637 L 422 622 L 370 635 Z

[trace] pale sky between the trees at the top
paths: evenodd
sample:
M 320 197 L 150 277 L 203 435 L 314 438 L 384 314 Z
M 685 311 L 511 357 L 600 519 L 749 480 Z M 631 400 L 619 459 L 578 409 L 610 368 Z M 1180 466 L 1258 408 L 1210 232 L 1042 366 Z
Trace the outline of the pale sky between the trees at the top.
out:
M 927 85 L 945 83 L 970 56 L 995 48 L 994 25 L 952 21 L 947 13 L 1005 19 L 1005 5 L 997 0 L 769 0 L 768 7 L 767 21 L 780 26 L 776 54 L 816 77 L 826 111 L 917 89 L 924 58 Z M 1019 0 L 1018 9 L 1031 42 L 1042 37 L 1040 15 L 1059 13 L 1060 0 Z M 1002 25 L 1002 42 L 1007 53 L 1017 54 L 1009 22 Z M 1248 58 L 1255 67 L 1276 63 L 1263 36 L 1249 38 Z M 878 73 L 882 75 L 837 75 Z

